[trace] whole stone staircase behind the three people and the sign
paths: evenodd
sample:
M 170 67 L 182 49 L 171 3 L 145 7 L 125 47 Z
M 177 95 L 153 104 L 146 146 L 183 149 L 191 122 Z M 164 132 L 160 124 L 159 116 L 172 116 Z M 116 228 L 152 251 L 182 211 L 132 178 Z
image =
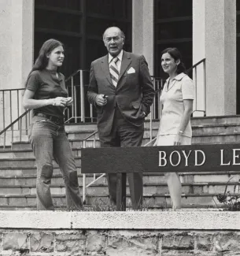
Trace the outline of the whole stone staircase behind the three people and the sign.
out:
M 240 116 L 229 117 L 195 117 L 193 126 L 193 143 L 238 143 L 240 142 Z M 157 135 L 158 121 L 153 121 L 153 137 Z M 68 139 L 76 158 L 79 175 L 80 192 L 83 179 L 81 175 L 81 147 L 83 139 L 96 130 L 96 124 L 72 124 L 66 126 Z M 95 136 L 96 147 L 99 147 L 98 135 Z M 150 140 L 150 124 L 146 121 L 143 144 Z M 86 147 L 94 146 L 94 137 L 87 140 Z M 0 149 L 0 210 L 35 210 L 35 158 L 25 135 L 23 141 L 13 143 L 13 149 Z M 240 170 L 240 169 L 239 169 Z M 98 175 L 97 175 L 98 177 Z M 216 195 L 222 193 L 228 183 L 227 191 L 234 191 L 234 185 L 240 179 L 240 173 L 222 171 L 219 173 L 181 173 L 183 182 L 183 208 L 216 208 L 222 207 Z M 93 180 L 87 175 L 87 184 Z M 171 207 L 168 187 L 163 173 L 144 174 L 144 206 L 146 209 L 164 209 Z M 54 204 L 59 210 L 65 209 L 65 187 L 60 169 L 54 163 L 54 177 L 51 192 Z M 105 177 L 87 188 L 86 204 L 107 205 L 108 187 Z M 127 206 L 131 206 L 129 187 L 127 186 Z

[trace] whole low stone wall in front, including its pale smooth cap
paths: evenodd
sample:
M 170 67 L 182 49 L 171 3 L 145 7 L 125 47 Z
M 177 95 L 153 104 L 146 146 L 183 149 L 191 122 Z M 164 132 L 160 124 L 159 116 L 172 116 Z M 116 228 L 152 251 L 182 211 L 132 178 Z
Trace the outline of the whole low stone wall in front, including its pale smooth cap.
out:
M 239 217 L 207 211 L 0 211 L 0 255 L 234 256 L 240 255 Z

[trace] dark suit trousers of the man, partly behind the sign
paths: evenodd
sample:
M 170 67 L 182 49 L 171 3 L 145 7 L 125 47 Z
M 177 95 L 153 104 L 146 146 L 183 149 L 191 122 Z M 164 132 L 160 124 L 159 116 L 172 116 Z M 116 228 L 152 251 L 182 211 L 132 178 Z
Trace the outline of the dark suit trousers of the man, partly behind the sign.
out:
M 100 137 L 101 147 L 141 147 L 144 124 L 137 127 L 124 119 L 116 107 L 113 128 L 108 136 Z M 124 159 L 123 159 L 124 161 Z M 116 173 L 107 174 L 110 200 L 116 204 Z M 142 206 L 142 173 L 127 173 L 133 209 Z

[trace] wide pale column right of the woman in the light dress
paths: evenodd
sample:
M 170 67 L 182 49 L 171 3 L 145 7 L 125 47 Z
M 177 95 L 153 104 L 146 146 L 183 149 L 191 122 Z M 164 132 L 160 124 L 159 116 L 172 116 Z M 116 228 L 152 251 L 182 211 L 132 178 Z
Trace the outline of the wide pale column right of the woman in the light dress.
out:
M 197 110 L 206 97 L 207 116 L 236 114 L 236 0 L 193 0 L 193 64 L 202 58 L 206 91 L 199 65 Z

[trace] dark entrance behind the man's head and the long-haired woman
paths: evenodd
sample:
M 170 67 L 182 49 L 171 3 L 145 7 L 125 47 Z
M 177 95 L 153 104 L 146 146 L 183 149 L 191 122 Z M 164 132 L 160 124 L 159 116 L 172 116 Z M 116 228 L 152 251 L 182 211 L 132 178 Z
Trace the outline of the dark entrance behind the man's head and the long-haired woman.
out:
M 106 54 L 105 28 L 116 25 L 126 34 L 131 50 L 131 0 L 35 0 L 35 58 L 46 39 L 65 44 L 62 72 L 90 69 L 90 62 Z

